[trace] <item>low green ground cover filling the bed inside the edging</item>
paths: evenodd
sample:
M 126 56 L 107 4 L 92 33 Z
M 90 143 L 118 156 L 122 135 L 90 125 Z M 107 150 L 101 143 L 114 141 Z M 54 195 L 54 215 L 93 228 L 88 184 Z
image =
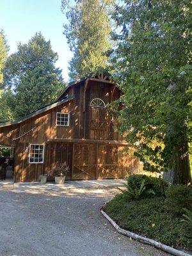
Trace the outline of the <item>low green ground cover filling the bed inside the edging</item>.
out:
M 164 197 L 130 202 L 124 194 L 116 195 L 105 208 L 120 227 L 170 246 L 189 248 L 189 225 L 164 211 Z

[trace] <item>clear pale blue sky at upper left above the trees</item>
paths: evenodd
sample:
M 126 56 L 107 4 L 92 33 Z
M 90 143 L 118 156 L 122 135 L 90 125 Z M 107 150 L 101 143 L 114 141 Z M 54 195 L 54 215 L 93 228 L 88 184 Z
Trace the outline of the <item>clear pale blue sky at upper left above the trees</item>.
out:
M 17 43 L 27 43 L 36 32 L 42 31 L 51 40 L 52 49 L 58 52 L 57 67 L 63 69 L 68 80 L 68 60 L 72 57 L 63 35 L 65 15 L 61 12 L 61 0 L 0 0 L 0 29 L 4 29 L 10 53 L 17 50 Z

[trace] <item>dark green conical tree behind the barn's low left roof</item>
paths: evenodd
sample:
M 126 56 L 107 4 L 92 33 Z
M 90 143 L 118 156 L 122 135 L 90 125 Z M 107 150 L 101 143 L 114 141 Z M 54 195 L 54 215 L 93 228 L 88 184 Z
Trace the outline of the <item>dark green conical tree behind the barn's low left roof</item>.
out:
M 28 44 L 18 44 L 4 67 L 4 86 L 14 94 L 14 116 L 19 118 L 54 101 L 63 88 L 61 70 L 55 67 L 58 54 L 42 33 Z

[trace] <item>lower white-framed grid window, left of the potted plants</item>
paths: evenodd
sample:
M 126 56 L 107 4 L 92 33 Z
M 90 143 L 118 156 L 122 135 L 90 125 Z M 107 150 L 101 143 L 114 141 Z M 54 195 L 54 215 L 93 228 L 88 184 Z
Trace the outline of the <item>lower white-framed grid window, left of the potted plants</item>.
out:
M 42 144 L 30 144 L 29 163 L 44 163 L 44 148 Z

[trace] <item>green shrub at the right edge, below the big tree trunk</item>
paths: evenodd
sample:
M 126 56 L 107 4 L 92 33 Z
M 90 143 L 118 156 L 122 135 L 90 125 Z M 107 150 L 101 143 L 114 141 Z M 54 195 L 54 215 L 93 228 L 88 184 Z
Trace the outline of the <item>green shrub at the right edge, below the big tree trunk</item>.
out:
M 182 214 L 184 208 L 192 211 L 192 188 L 186 185 L 173 185 L 166 190 L 166 210 L 172 214 Z

